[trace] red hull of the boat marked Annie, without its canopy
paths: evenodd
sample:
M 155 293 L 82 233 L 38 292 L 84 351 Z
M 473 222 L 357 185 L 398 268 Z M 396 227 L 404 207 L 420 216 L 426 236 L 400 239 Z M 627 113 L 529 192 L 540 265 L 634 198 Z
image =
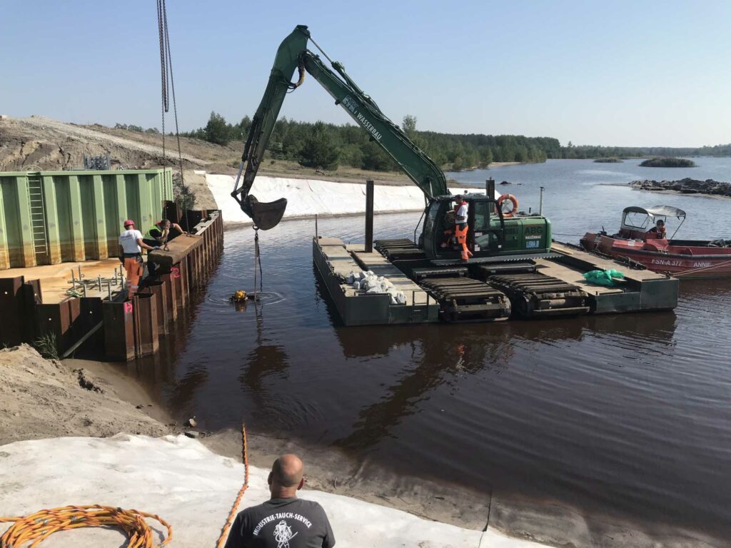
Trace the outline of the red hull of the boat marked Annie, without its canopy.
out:
M 731 248 L 676 245 L 673 240 L 624 240 L 594 232 L 587 232 L 580 243 L 586 251 L 629 259 L 675 278 L 731 278 Z

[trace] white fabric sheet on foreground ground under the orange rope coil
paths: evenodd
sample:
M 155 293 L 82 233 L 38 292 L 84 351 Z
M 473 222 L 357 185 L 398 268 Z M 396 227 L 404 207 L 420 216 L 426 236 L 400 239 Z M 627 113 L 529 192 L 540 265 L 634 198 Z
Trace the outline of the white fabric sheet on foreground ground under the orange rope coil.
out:
M 267 500 L 268 471 L 251 467 L 240 509 Z M 173 548 L 213 547 L 241 483 L 243 465 L 213 454 L 183 435 L 149 438 L 53 438 L 0 446 L 0 516 L 20 516 L 56 506 L 102 504 L 159 514 L 173 526 Z M 488 530 L 457 528 L 404 511 L 319 491 L 300 491 L 318 501 L 333 525 L 337 546 L 539 547 Z M 9 524 L 0 523 L 0 532 Z M 158 525 L 151 522 L 156 530 Z M 56 533 L 56 548 L 119 546 L 113 530 L 87 528 Z

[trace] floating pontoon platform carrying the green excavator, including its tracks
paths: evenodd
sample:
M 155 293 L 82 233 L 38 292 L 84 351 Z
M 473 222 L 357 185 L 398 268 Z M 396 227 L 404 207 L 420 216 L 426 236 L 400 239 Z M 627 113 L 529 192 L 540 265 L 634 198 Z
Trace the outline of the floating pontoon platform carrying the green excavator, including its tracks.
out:
M 346 325 L 439 321 L 497 321 L 671 310 L 678 305 L 678 280 L 602 259 L 554 242 L 550 258 L 488 264 L 439 265 L 411 240 L 383 240 L 379 251 L 346 246 L 333 237 L 315 238 L 314 263 Z M 618 270 L 624 281 L 596 286 L 590 270 Z M 372 270 L 404 293 L 406 304 L 389 294 L 366 294 L 347 283 L 352 272 Z

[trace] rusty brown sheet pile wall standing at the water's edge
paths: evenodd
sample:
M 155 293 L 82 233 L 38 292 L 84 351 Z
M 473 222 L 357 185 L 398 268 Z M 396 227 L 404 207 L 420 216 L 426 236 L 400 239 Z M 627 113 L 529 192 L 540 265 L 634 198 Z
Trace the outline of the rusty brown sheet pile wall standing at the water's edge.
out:
M 220 212 L 191 213 L 202 219 L 191 229 L 192 235 L 172 240 L 170 251 L 148 256 L 148 261 L 159 265 L 158 272 L 145 278 L 132 300 L 90 297 L 43 304 L 39 281 L 26 281 L 23 276 L 0 278 L 0 343 L 31 343 L 53 333 L 58 353 L 63 354 L 103 322 L 99 332 L 106 359 L 126 361 L 154 354 L 159 338 L 170 332 L 189 305 L 191 293 L 205 286 L 223 250 Z

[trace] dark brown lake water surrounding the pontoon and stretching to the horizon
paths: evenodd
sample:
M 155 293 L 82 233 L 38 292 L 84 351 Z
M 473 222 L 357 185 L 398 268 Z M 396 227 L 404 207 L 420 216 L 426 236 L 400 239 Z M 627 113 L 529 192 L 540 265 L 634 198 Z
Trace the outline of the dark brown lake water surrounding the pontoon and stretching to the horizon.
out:
M 697 161 L 693 170 L 549 161 L 450 177 L 523 183 L 499 188 L 526 210 L 545 186 L 544 213 L 561 234 L 616 229 L 626 205 L 668 204 L 689 212 L 683 237 L 731 237 L 727 200 L 599 184 L 731 180 L 731 159 Z M 418 218 L 376 216 L 376 237 L 412 236 Z M 504 500 L 729 538 L 730 282 L 683 282 L 675 313 L 346 328 L 319 287 L 313 233 L 314 221 L 262 233 L 258 311 L 227 302 L 251 289 L 253 238 L 226 233 L 186 336 L 169 338 L 148 371 L 174 414 L 196 414 L 208 430 L 244 419 L 255 432 Z M 319 233 L 362 241 L 363 218 L 321 220 Z

